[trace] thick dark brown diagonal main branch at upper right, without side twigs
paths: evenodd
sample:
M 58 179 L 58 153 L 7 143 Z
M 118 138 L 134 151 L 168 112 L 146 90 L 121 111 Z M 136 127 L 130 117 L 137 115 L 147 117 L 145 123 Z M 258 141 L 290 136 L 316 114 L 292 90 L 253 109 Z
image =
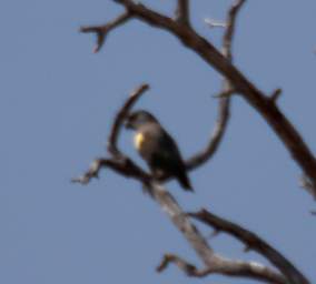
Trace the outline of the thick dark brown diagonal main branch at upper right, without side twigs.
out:
M 221 52 L 191 28 L 179 24 L 172 19 L 148 9 L 144 4 L 135 3 L 130 0 L 115 1 L 122 4 L 135 18 L 152 27 L 174 33 L 187 48 L 194 50 L 210 67 L 215 68 L 229 80 L 237 93 L 271 126 L 292 158 L 308 176 L 313 185 L 310 192 L 316 199 L 316 160 L 298 131 L 265 93 L 257 89 Z

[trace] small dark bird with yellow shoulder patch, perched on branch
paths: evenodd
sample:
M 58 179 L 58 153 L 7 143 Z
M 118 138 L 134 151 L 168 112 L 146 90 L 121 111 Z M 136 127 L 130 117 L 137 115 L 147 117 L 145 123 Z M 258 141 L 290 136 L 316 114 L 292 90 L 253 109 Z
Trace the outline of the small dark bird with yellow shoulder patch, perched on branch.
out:
M 135 148 L 147 162 L 154 176 L 174 176 L 185 190 L 192 191 L 175 140 L 151 113 L 144 110 L 131 113 L 127 118 L 126 128 L 136 131 Z

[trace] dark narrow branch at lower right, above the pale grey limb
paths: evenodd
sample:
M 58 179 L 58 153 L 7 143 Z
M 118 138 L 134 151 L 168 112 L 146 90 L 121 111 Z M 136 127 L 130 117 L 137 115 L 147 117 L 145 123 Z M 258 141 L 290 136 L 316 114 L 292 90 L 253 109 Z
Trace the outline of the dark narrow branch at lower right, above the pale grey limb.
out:
M 309 283 L 308 280 L 287 258 L 255 233 L 231 223 L 230 221 L 219 217 L 207 210 L 201 210 L 197 213 L 189 213 L 189 215 L 209 226 L 213 226 L 217 232 L 223 231 L 235 236 L 237 240 L 241 241 L 248 250 L 256 251 L 260 255 L 265 256 L 288 278 L 290 283 Z

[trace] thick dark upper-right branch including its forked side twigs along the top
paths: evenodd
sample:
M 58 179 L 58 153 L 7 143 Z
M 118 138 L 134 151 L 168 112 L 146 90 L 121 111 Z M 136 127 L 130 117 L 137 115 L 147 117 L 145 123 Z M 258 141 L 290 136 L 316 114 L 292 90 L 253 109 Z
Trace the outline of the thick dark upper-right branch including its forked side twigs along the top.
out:
M 136 3 L 131 0 L 115 0 L 115 2 L 121 4 L 126 9 L 128 14 L 126 18 L 124 17 L 124 19 L 135 18 L 152 27 L 169 31 L 178 38 L 185 47 L 196 52 L 196 54 L 211 68 L 216 69 L 224 78 L 226 78 L 229 85 L 233 87 L 236 92 L 238 92 L 238 94 L 270 125 L 292 158 L 300 166 L 303 173 L 309 179 L 312 183 L 312 195 L 316 196 L 316 159 L 296 128 L 285 116 L 276 103 L 274 103 L 278 99 L 279 92 L 275 92 L 271 95 L 271 100 L 267 99 L 268 95 L 261 92 L 231 63 L 231 41 L 236 26 L 236 16 L 246 2 L 245 0 L 235 0 L 228 10 L 223 51 L 217 50 L 211 42 L 198 34 L 190 26 L 179 24 L 179 22 L 186 22 L 186 19 L 188 19 L 189 1 L 177 1 L 176 20 L 152 11 L 146 6 Z M 119 20 L 113 22 L 113 24 L 110 24 L 110 29 L 103 29 L 106 32 L 96 27 L 83 28 L 83 31 L 86 32 L 96 32 L 98 34 L 99 40 L 95 51 L 100 50 L 105 34 L 108 34 L 109 30 L 112 30 L 112 28 L 116 28 L 121 23 Z M 125 20 L 122 22 L 125 22 Z

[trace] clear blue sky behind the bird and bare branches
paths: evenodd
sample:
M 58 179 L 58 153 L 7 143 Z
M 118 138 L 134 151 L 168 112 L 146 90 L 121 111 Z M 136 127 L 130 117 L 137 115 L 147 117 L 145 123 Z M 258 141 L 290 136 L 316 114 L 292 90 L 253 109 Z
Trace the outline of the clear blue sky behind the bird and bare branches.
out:
M 144 1 L 171 14 L 175 0 Z M 230 1 L 191 1 L 194 24 L 217 47 Z M 315 151 L 316 2 L 248 1 L 235 41 L 236 64 L 261 90 L 282 87 L 279 104 Z M 102 23 L 121 8 L 110 0 L 0 2 L 0 282 L 6 284 L 245 283 L 157 274 L 166 252 L 200 265 L 181 234 L 140 185 L 107 171 L 71 184 L 105 155 L 116 111 L 147 82 L 137 108 L 152 111 L 189 156 L 213 131 L 220 77 L 169 33 L 132 21 L 92 54 L 82 24 Z M 201 206 L 243 224 L 316 280 L 316 219 L 298 186 L 300 170 L 263 121 L 234 98 L 227 135 L 214 160 L 190 173 L 196 194 L 168 187 L 188 211 Z M 121 148 L 132 158 L 131 133 Z M 209 231 L 204 230 L 205 234 Z M 210 244 L 231 257 L 259 260 L 227 236 Z

